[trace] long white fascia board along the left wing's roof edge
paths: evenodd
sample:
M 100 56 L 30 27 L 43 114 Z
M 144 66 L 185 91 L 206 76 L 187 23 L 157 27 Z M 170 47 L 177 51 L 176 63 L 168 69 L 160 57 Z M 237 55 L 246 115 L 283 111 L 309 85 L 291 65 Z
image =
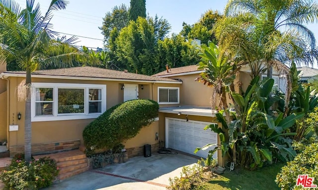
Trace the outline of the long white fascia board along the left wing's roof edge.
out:
M 1 73 L 1 78 L 7 77 L 25 77 L 22 73 Z M 160 80 L 136 80 L 136 79 L 119 79 L 119 78 L 99 78 L 86 76 L 59 76 L 59 75 L 37 75 L 33 74 L 32 78 L 56 78 L 56 79 L 71 79 L 71 80 L 104 80 L 104 81 L 123 81 L 123 82 L 148 82 L 148 83 L 166 83 L 166 84 L 182 84 L 181 81 L 160 81 Z

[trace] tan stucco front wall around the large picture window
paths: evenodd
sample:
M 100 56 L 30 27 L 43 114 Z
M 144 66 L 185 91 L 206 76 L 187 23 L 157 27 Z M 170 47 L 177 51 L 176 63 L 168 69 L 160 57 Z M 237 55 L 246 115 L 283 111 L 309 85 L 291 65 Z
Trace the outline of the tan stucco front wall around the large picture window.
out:
M 19 125 L 18 131 L 9 132 L 9 146 L 20 146 L 24 144 L 24 115 L 25 103 L 18 102 L 16 98 L 16 86 L 23 80 L 22 77 L 9 77 L 9 122 L 12 123 L 12 116 L 14 114 L 14 124 Z M 124 90 L 121 90 L 123 82 L 119 81 L 91 81 L 91 80 L 66 80 L 66 79 L 48 79 L 48 78 L 32 78 L 32 82 L 54 82 L 54 83 L 84 83 L 84 84 L 106 84 L 106 107 L 107 109 L 122 103 L 124 100 Z M 127 82 L 124 82 L 128 84 Z M 139 98 L 152 99 L 152 83 L 136 83 L 129 82 L 129 84 L 139 84 Z M 144 89 L 141 89 L 143 84 Z M 22 119 L 19 121 L 16 118 L 17 113 L 22 114 Z M 50 122 L 32 122 L 32 144 L 50 143 L 79 139 L 82 144 L 82 131 L 93 119 L 87 120 L 66 120 L 66 121 L 50 121 Z M 127 141 L 128 144 L 145 144 L 150 139 L 155 139 L 155 130 L 158 127 L 145 127 L 138 134 L 142 138 L 139 142 L 138 138 L 133 141 Z M 151 133 L 152 138 L 145 138 L 147 133 Z M 153 141 L 150 141 L 153 143 Z M 130 146 L 130 145 L 129 145 Z M 132 145 L 133 146 L 133 145 Z

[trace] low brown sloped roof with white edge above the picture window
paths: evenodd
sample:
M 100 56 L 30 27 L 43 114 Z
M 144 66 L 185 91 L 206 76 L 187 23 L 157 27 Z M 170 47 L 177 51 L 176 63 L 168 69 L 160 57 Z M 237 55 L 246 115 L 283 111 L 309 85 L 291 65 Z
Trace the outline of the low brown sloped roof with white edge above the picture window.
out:
M 24 75 L 25 71 L 6 71 L 2 72 L 0 76 L 20 76 Z M 98 68 L 91 66 L 79 66 L 71 68 L 59 68 L 48 70 L 37 70 L 32 73 L 32 77 L 42 78 L 73 78 L 73 79 L 99 79 L 99 80 L 137 80 L 149 82 L 166 82 L 166 83 L 180 83 L 177 80 L 169 78 L 159 78 L 155 76 L 148 76 L 143 74 L 136 74 L 118 70 L 111 70 L 106 68 Z

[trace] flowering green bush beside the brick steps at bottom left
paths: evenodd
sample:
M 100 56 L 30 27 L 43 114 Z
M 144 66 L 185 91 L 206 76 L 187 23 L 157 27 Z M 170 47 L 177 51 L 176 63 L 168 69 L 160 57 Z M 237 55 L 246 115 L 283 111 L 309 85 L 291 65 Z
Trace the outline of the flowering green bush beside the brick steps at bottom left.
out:
M 59 168 L 53 159 L 48 157 L 23 160 L 23 154 L 17 154 L 4 170 L 0 179 L 7 190 L 38 190 L 49 187 L 59 174 Z

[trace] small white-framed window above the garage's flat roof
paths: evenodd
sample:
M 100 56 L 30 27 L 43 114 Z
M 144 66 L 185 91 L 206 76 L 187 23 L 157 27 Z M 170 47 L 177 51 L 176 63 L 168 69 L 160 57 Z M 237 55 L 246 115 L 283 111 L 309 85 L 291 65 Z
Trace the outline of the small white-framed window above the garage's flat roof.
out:
M 179 104 L 178 87 L 158 87 L 159 104 Z

